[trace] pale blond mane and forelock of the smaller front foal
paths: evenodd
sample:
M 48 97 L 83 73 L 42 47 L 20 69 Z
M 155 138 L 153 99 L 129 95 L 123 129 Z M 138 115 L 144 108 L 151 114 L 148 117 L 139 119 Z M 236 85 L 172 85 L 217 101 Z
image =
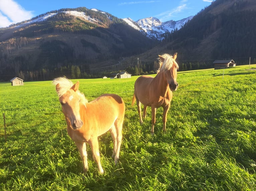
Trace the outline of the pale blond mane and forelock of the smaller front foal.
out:
M 55 86 L 59 84 L 59 90 L 57 92 L 59 97 L 64 95 L 74 85 L 73 82 L 71 82 L 71 80 L 65 77 L 55 78 L 52 81 L 52 84 Z M 83 93 L 81 93 L 79 90 L 76 93 L 80 96 L 82 103 L 85 104 L 88 102 L 88 100 L 85 98 L 85 95 Z

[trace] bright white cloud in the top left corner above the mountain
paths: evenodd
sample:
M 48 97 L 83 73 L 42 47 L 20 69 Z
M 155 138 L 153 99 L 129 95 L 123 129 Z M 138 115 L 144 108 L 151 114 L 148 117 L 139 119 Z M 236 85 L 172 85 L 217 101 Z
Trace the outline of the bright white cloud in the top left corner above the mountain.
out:
M 0 27 L 6 27 L 32 17 L 31 11 L 26 11 L 14 0 L 0 0 Z

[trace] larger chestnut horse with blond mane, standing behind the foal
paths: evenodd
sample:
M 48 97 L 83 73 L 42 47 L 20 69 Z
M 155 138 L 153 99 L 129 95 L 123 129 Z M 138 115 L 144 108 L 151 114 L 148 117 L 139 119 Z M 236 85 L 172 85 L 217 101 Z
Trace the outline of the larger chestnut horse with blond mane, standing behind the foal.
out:
M 140 76 L 134 84 L 134 94 L 132 105 L 137 103 L 140 116 L 140 123 L 143 123 L 141 117 L 141 103 L 144 105 L 143 117 L 146 116 L 147 106 L 151 106 L 152 127 L 151 134 L 154 134 L 156 109 L 163 107 L 163 131 L 166 131 L 167 112 L 170 108 L 172 91 L 177 90 L 176 82 L 178 64 L 176 63 L 177 53 L 173 56 L 168 54 L 158 55 L 161 60 L 160 71 L 155 76 Z

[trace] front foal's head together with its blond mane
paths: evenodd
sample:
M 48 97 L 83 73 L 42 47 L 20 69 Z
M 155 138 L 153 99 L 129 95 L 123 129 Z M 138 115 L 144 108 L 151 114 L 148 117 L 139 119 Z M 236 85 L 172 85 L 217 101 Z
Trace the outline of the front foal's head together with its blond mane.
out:
M 73 83 L 66 78 L 56 78 L 53 80 L 59 96 L 64 115 L 70 120 L 73 129 L 80 129 L 83 121 L 80 117 L 80 104 L 85 104 L 87 99 L 79 91 L 79 82 Z

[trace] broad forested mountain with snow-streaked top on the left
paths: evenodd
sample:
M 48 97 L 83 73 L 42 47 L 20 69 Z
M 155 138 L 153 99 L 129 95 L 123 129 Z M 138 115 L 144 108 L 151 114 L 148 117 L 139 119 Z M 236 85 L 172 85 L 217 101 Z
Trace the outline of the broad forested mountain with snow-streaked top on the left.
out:
M 63 11 L 84 12 L 92 21 Z M 91 77 L 91 68 L 117 64 L 156 43 L 108 13 L 81 7 L 44 15 L 53 13 L 45 21 L 1 30 L 0 80 L 15 75 L 25 80 Z

